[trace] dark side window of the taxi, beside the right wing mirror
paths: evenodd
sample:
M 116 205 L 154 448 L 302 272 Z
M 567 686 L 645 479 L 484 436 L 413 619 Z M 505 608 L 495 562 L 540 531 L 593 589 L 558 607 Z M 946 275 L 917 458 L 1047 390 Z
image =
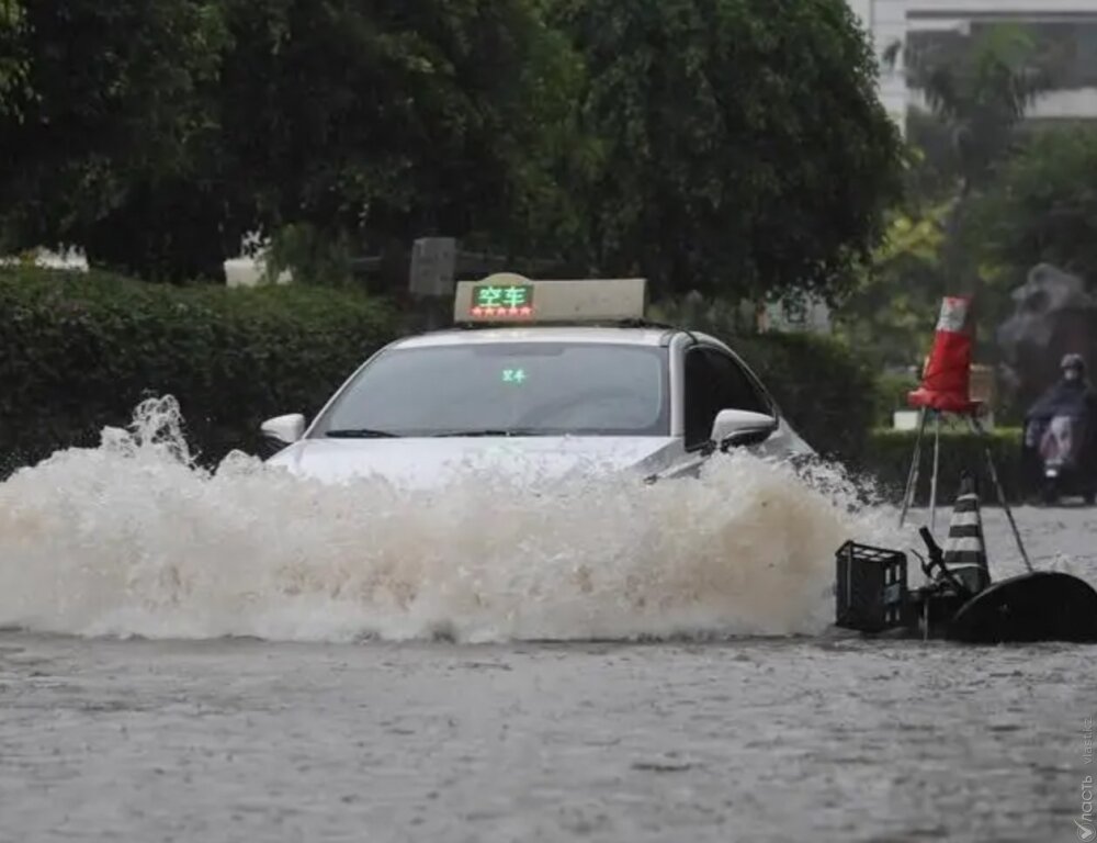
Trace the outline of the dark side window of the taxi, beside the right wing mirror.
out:
M 715 348 L 691 348 L 685 360 L 686 447 L 697 448 L 712 436 L 712 425 L 722 409 L 773 413 L 739 363 Z

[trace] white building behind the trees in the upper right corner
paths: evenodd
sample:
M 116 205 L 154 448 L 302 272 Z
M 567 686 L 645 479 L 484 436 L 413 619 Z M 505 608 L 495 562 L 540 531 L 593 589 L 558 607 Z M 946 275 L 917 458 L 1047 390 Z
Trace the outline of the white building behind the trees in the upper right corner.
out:
M 1097 119 L 1097 0 L 847 0 L 872 34 L 877 56 L 894 43 L 966 37 L 973 29 L 1003 21 L 1032 25 L 1053 45 L 1062 87 L 1029 111 L 1033 119 Z M 880 99 L 905 125 L 908 106 L 921 104 L 908 90 L 902 61 L 881 66 Z

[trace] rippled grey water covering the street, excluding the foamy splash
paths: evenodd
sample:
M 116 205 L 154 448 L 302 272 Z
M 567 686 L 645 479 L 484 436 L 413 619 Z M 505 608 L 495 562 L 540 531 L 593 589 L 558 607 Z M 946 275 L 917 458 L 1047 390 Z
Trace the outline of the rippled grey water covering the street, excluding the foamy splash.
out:
M 1018 515 L 1097 580 L 1095 510 Z M 9 632 L 0 839 L 1076 840 L 1095 655 Z

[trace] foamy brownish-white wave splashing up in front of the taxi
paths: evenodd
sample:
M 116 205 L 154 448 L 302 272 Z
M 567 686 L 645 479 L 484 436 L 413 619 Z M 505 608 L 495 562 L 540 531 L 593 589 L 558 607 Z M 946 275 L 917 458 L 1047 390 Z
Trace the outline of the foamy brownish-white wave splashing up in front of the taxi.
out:
M 0 484 L 0 626 L 80 636 L 460 641 L 813 634 L 834 550 L 894 542 L 836 469 L 459 475 L 442 493 L 197 468 L 171 398 Z

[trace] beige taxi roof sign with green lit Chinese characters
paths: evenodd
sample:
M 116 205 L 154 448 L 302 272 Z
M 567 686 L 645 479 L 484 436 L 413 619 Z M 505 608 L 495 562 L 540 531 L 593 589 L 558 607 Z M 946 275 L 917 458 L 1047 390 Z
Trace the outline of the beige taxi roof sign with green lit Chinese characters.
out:
M 497 272 L 457 282 L 455 323 L 528 324 L 643 319 L 647 279 L 592 278 L 531 281 Z

